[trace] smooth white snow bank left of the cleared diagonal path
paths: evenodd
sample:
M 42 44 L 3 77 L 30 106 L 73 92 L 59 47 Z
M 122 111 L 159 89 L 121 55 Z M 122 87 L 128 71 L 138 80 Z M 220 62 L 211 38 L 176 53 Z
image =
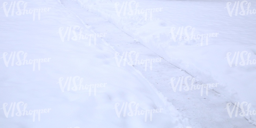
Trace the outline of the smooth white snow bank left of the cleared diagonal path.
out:
M 0 44 L 2 127 L 179 128 L 188 125 L 187 119 L 182 120 L 174 106 L 134 68 L 119 68 L 112 59 L 115 51 L 102 40 L 97 39 L 96 45 L 90 46 L 89 40 L 72 40 L 69 29 L 65 37 L 70 26 L 83 27 L 83 35 L 94 33 L 63 8 L 63 1 L 46 1 L 26 1 L 28 10 L 51 7 L 41 13 L 40 20 L 37 17 L 33 20 L 33 15 L 12 16 L 12 10 L 8 17 L 4 11 L 0 12 L 0 33 L 5 36 Z M 19 59 L 24 56 L 21 65 Z M 45 58 L 51 59 L 45 61 Z M 34 71 L 30 62 L 37 64 Z M 122 108 L 126 102 L 127 106 Z M 150 112 L 147 116 L 130 115 L 129 109 L 135 110 L 136 106 L 140 112 Z

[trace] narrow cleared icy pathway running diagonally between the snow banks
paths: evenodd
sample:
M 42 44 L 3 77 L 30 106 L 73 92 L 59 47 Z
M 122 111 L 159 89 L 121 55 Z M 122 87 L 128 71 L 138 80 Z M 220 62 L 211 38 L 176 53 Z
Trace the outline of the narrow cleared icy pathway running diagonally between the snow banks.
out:
M 93 24 L 91 29 L 96 33 L 107 33 L 106 37 L 103 37 L 103 39 L 113 46 L 115 51 L 119 52 L 120 55 L 122 55 L 123 52 L 129 53 L 130 51 L 135 51 L 135 53 L 139 53 L 138 60 L 161 58 L 139 42 L 134 41 L 132 37 L 122 32 L 107 20 L 82 9 L 76 2 L 61 0 L 61 3 L 67 9 L 78 15 L 88 26 Z M 95 24 L 97 24 L 97 26 L 95 26 Z M 101 41 L 97 40 L 97 43 L 99 42 Z M 114 57 L 113 55 L 113 59 L 115 59 Z M 135 59 L 135 55 L 132 55 L 132 59 Z M 120 56 L 118 60 L 120 60 Z M 123 61 L 124 60 L 121 61 L 120 66 L 123 66 Z M 125 66 L 129 65 L 126 63 Z M 176 92 L 174 92 L 170 84 L 171 77 L 176 77 L 177 81 L 178 77 L 183 76 L 185 78 L 189 76 L 189 74 L 182 71 L 182 69 L 174 67 L 164 59 L 161 59 L 161 62 L 152 63 L 152 70 L 150 70 L 149 64 L 147 65 L 147 71 L 145 71 L 145 64 L 136 64 L 134 67 L 139 70 L 169 102 L 176 106 L 177 110 L 183 114 L 184 118 L 189 119 L 192 128 L 255 128 L 255 126 L 248 123 L 245 117 L 238 116 L 230 118 L 227 110 L 223 108 L 229 100 L 213 90 L 209 90 L 208 95 L 206 95 L 206 89 L 204 88 L 203 95 L 201 96 L 201 90 L 179 91 L 178 85 Z M 176 81 L 174 84 L 176 84 Z M 184 88 L 184 86 L 182 88 Z

